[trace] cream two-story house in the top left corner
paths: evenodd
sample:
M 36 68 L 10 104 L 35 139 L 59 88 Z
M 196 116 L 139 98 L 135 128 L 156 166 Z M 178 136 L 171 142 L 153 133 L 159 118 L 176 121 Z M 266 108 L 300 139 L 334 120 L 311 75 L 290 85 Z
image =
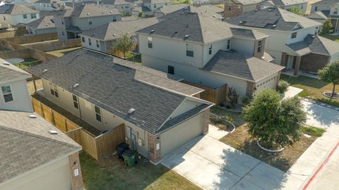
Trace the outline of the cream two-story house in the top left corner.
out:
M 16 4 L 0 6 L 0 28 L 11 28 L 27 24 L 40 18 L 39 11 Z

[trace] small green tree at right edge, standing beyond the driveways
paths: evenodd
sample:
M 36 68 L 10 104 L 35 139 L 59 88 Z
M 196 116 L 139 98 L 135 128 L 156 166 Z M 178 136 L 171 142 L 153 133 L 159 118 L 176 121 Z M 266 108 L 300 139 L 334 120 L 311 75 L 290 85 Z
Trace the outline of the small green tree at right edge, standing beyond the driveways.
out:
M 335 85 L 339 84 L 339 61 L 335 61 L 326 65 L 325 68 L 318 71 L 320 80 L 324 82 L 331 82 L 333 90 L 331 97 L 335 96 Z

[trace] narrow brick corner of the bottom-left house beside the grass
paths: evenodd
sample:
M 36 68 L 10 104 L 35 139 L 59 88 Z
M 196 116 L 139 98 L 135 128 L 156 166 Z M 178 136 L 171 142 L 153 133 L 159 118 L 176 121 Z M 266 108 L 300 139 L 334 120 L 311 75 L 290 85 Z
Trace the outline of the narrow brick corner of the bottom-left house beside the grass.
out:
M 74 164 L 75 163 L 75 164 Z M 74 176 L 74 170 L 78 169 L 78 176 Z M 79 152 L 73 153 L 69 156 L 69 172 L 71 175 L 71 182 L 73 190 L 83 189 L 83 175 L 81 173 L 81 166 L 79 160 Z

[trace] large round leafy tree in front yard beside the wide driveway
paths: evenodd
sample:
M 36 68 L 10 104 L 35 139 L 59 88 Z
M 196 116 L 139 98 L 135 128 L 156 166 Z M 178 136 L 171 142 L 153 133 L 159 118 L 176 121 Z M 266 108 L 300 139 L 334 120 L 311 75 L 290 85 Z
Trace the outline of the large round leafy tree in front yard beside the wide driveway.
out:
M 263 89 L 243 109 L 251 138 L 267 148 L 293 145 L 299 140 L 299 129 L 306 113 L 297 97 L 280 101 L 278 92 Z

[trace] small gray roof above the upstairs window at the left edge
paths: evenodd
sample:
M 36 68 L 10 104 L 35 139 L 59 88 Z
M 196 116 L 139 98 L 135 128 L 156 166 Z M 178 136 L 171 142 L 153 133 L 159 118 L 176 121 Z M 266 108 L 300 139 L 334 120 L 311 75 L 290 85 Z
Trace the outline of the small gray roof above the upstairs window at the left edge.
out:
M 5 64 L 4 64 L 5 63 Z M 7 65 L 9 64 L 9 65 Z M 0 82 L 31 77 L 30 73 L 0 58 Z

